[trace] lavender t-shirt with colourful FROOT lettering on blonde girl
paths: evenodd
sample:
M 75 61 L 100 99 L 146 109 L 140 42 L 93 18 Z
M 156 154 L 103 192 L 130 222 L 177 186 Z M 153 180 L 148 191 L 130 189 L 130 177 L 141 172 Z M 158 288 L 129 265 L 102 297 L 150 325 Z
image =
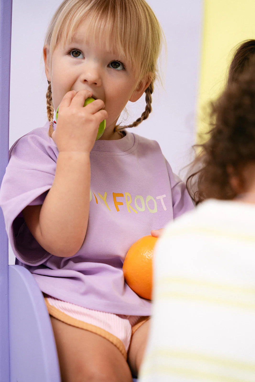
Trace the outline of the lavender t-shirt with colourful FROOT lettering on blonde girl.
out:
M 21 212 L 42 204 L 54 180 L 58 150 L 48 128 L 47 123 L 15 142 L 1 186 L 0 206 L 19 264 L 55 298 L 115 314 L 149 315 L 151 302 L 125 283 L 122 264 L 136 240 L 193 208 L 184 183 L 156 141 L 129 132 L 117 141 L 96 141 L 86 237 L 74 256 L 53 256 L 31 235 Z

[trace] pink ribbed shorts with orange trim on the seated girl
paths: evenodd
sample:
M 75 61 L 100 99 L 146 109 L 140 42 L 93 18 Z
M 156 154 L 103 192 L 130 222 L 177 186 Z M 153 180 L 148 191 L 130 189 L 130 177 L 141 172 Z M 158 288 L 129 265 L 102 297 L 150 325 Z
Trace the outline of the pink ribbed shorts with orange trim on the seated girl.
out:
M 148 316 L 99 312 L 45 294 L 44 300 L 50 316 L 101 335 L 117 346 L 125 358 L 133 333 L 149 319 Z

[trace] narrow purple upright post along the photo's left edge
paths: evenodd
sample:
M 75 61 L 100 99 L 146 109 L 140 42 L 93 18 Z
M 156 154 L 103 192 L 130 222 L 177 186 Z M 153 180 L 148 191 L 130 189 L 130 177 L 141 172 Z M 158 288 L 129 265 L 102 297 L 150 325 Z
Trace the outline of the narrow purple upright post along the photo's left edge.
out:
M 10 60 L 11 60 L 11 0 L 0 3 L 0 183 L 8 163 Z M 0 381 L 10 379 L 9 314 L 8 314 L 8 240 L 0 210 Z

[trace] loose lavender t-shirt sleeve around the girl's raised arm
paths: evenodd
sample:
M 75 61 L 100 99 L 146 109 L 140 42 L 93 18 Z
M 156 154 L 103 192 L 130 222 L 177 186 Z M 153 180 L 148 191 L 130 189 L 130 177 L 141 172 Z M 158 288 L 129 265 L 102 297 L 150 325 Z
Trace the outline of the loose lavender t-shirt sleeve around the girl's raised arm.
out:
M 0 206 L 15 256 L 24 264 L 39 265 L 52 256 L 31 235 L 22 210 L 39 205 L 52 186 L 57 147 L 45 129 L 36 129 L 20 138 L 11 148 L 0 189 Z M 35 131 L 36 131 L 35 130 Z

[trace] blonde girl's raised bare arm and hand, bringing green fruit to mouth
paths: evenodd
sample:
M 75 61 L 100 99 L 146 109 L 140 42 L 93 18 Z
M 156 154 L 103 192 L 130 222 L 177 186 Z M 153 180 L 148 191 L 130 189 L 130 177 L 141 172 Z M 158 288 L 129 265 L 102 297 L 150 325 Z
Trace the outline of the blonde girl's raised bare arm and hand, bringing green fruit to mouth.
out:
M 24 220 L 49 253 L 73 256 L 86 235 L 89 214 L 89 153 L 99 123 L 107 118 L 101 100 L 83 107 L 88 91 L 68 92 L 60 103 L 54 140 L 58 147 L 55 178 L 41 206 L 27 206 Z M 84 128 L 84 126 L 86 126 Z

